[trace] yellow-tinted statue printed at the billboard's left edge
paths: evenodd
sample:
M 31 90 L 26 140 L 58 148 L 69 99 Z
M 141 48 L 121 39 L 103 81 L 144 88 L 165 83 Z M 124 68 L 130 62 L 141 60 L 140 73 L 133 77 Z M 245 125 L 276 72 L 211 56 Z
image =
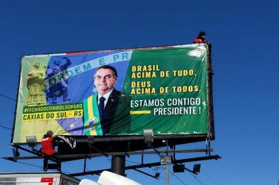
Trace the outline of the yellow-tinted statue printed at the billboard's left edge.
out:
M 40 69 L 40 62 L 33 64 L 33 69 L 27 73 L 27 106 L 47 104 L 45 99 L 45 71 Z

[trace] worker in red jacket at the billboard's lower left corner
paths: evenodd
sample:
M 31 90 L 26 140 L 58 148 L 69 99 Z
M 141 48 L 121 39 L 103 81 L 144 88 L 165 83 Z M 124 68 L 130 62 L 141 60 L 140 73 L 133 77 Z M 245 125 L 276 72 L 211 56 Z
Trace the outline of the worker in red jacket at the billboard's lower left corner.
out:
M 47 131 L 47 134 L 43 135 L 43 138 L 41 140 L 41 153 L 42 156 L 52 156 L 56 153 L 55 148 L 54 148 L 54 138 L 52 137 L 54 132 L 51 130 Z M 48 159 L 44 158 L 43 160 L 43 169 L 46 171 L 47 169 L 47 164 L 48 164 Z

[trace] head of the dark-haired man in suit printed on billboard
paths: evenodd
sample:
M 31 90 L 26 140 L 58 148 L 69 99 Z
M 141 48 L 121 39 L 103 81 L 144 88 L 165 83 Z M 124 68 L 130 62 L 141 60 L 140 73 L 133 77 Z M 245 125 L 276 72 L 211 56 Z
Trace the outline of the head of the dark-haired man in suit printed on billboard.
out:
M 118 72 L 113 66 L 100 66 L 94 75 L 94 85 L 100 95 L 109 93 L 114 88 Z

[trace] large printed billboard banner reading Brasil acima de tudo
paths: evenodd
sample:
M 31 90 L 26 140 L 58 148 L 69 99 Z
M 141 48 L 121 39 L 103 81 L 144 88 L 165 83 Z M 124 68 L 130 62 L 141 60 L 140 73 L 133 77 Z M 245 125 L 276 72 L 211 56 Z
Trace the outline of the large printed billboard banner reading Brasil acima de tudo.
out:
M 208 134 L 208 46 L 23 56 L 12 143 L 25 136 Z

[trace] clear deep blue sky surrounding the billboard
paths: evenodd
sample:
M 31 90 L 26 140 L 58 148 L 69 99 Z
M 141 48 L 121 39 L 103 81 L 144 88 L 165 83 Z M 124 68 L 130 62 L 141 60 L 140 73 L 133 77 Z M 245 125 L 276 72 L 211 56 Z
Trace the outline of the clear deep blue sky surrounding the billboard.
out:
M 170 173 L 170 184 L 278 184 L 279 1 L 8 1 L 0 2 L 1 95 L 16 99 L 21 55 L 192 43 L 200 31 L 212 43 L 214 118 L 220 160 L 201 162 L 201 173 Z M 15 101 L 0 96 L 0 156 L 10 147 Z M 205 143 L 183 145 L 201 148 Z M 188 158 L 188 154 L 183 154 Z M 140 162 L 128 158 L 127 164 Z M 150 156 L 150 161 L 158 161 Z M 41 160 L 23 161 L 42 166 Z M 91 159 L 88 170 L 107 168 Z M 192 169 L 194 163 L 186 163 Z M 67 173 L 82 171 L 69 162 Z M 170 168 L 172 171 L 172 168 Z M 156 169 L 142 169 L 155 174 Z M 0 172 L 42 171 L 0 159 Z M 142 184 L 164 184 L 136 171 Z M 96 178 L 98 176 L 87 176 Z

